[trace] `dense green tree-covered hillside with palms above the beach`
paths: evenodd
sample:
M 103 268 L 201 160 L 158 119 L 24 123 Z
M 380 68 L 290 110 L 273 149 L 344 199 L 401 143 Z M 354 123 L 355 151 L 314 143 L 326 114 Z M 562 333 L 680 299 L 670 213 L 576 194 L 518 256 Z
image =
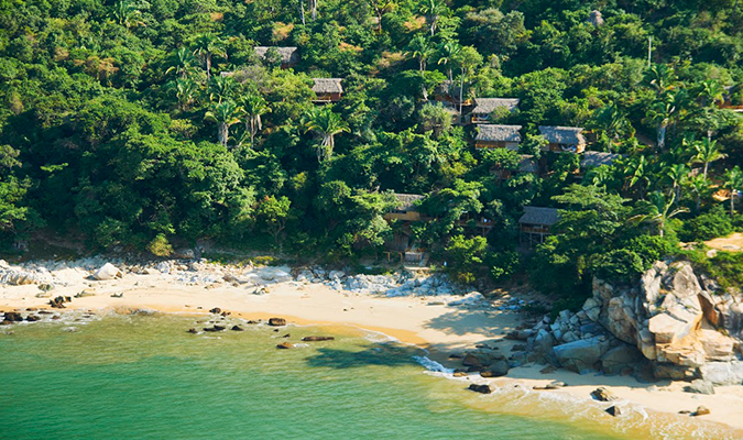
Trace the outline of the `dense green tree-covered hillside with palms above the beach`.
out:
M 463 282 L 570 294 L 686 252 L 741 283 L 679 241 L 743 228 L 742 61 L 735 0 L 0 0 L 2 242 L 347 261 L 404 233 Z M 470 123 L 482 98 L 517 106 Z M 559 209 L 531 245 L 526 207 Z

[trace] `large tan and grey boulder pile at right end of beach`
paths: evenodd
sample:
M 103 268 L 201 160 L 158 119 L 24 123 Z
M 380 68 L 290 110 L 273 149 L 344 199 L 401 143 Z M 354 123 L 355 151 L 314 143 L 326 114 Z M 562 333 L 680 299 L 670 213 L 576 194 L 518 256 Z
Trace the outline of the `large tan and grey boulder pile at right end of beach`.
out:
M 657 262 L 635 286 L 593 280 L 577 314 L 560 311 L 509 337 L 531 361 L 587 373 L 695 381 L 691 393 L 743 384 L 743 302 L 687 262 Z

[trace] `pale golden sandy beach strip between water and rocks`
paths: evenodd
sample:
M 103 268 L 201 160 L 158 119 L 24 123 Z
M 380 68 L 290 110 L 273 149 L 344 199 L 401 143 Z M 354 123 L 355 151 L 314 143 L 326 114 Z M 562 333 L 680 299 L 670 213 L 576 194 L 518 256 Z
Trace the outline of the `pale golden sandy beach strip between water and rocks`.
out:
M 90 272 L 81 267 L 54 271 L 54 277 L 62 280 L 63 285 L 54 288 L 51 295 L 88 293 L 89 296 L 74 298 L 66 305 L 67 309 L 112 309 L 121 312 L 153 309 L 208 315 L 210 309 L 219 307 L 230 311 L 232 317 L 243 319 L 282 317 L 298 324 L 359 327 L 428 349 L 431 353 L 429 358 L 449 367 L 461 367 L 461 364 L 457 365 L 456 361 L 447 359 L 449 353 L 472 348 L 477 343 L 496 344 L 502 353 L 509 353 L 517 341 L 509 341 L 504 337 L 521 322 L 521 315 L 516 311 L 449 306 L 435 297 L 391 298 L 351 293 L 308 282 L 270 284 L 265 294 L 255 295 L 254 286 L 238 283 L 184 285 L 174 275 L 163 273 L 125 273 L 121 278 L 109 280 L 91 280 L 89 275 Z M 114 294 L 117 297 L 112 296 Z M 0 310 L 50 309 L 50 298 L 39 295 L 37 285 L 3 286 L 0 288 Z M 498 305 L 499 300 L 494 304 Z M 640 405 L 651 414 L 693 411 L 703 405 L 711 414 L 699 417 L 700 424 L 724 424 L 740 430 L 743 436 L 743 386 L 717 387 L 715 395 L 700 395 L 682 392 L 682 383 L 668 381 L 649 384 L 637 382 L 631 376 L 579 375 L 566 370 L 543 374 L 543 367 L 516 367 L 505 377 L 489 380 L 473 373 L 469 380 L 476 383 L 490 382 L 498 386 L 521 384 L 525 387 L 564 382 L 568 386 L 558 391 L 535 393 L 560 393 L 587 403 L 591 400 L 590 393 L 593 389 L 605 386 L 621 400 Z

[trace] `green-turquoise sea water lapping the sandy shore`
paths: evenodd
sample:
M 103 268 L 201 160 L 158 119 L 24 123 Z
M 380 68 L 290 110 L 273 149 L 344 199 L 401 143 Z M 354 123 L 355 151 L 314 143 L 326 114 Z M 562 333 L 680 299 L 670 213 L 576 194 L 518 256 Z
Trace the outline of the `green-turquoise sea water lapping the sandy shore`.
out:
M 419 349 L 359 329 L 189 334 L 204 318 L 65 319 L 0 329 L 0 439 L 729 437 L 521 388 L 479 395 L 426 370 Z M 299 342 L 310 334 L 336 340 Z M 299 346 L 275 348 L 287 340 Z

